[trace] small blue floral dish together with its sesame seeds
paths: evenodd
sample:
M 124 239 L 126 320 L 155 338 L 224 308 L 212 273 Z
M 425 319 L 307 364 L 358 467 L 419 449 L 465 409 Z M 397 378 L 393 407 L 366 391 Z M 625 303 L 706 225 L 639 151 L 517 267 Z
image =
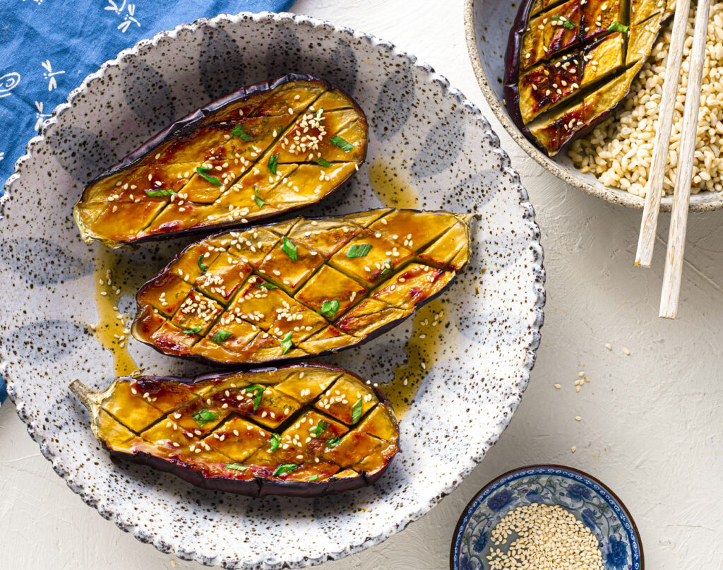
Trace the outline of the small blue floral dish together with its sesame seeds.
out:
M 571 467 L 500 475 L 464 510 L 451 570 L 640 570 L 638 529 L 602 482 Z

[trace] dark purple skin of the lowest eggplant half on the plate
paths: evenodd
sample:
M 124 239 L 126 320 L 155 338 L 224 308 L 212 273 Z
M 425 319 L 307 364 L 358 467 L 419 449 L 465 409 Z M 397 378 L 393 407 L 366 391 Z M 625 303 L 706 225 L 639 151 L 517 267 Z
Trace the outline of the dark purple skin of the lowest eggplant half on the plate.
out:
M 355 378 L 356 380 L 359 380 L 359 382 L 366 384 L 369 386 L 372 391 L 374 391 L 375 396 L 377 396 L 377 399 L 379 400 L 379 404 L 377 405 L 386 405 L 390 409 L 392 408 L 391 402 L 385 396 L 385 394 L 382 393 L 382 391 L 379 390 L 379 388 L 370 385 L 367 383 L 364 379 L 360 378 L 359 375 L 356 375 L 354 373 L 351 373 L 349 370 L 346 370 L 344 368 L 338 367 L 338 366 L 332 366 L 323 364 L 321 362 L 304 362 L 300 365 L 283 365 L 278 367 L 263 367 L 263 368 L 256 368 L 254 370 L 245 370 L 244 372 L 249 373 L 258 373 L 258 374 L 265 374 L 270 372 L 276 372 L 278 370 L 284 370 L 285 368 L 294 367 L 308 367 L 310 370 L 319 369 L 322 368 L 324 370 L 330 370 L 333 372 L 343 373 L 344 375 L 350 376 L 351 378 Z M 224 378 L 225 376 L 232 375 L 235 372 L 213 372 L 213 373 L 206 373 L 199 376 L 196 376 L 195 378 L 181 378 L 177 376 L 143 376 L 139 378 L 139 381 L 142 380 L 149 380 L 153 383 L 168 383 L 168 382 L 175 382 L 175 383 L 184 383 L 184 384 L 194 384 L 203 382 L 205 380 L 214 380 L 218 378 Z M 161 459 L 160 457 L 156 457 L 150 454 L 145 454 L 142 452 L 137 452 L 133 454 L 125 453 L 123 451 L 116 451 L 114 449 L 108 448 L 106 446 L 105 442 L 103 443 L 103 447 L 105 447 L 111 456 L 114 456 L 118 459 L 125 459 L 127 461 L 131 461 L 132 463 L 141 464 L 141 465 L 147 465 L 149 467 L 152 467 L 153 469 L 157 469 L 158 471 L 168 472 L 171 473 L 171 475 L 176 475 L 176 477 L 179 477 L 180 479 L 191 483 L 192 485 L 202 488 L 202 489 L 208 489 L 208 490 L 218 490 L 223 491 L 224 493 L 235 493 L 237 495 L 246 495 L 249 497 L 264 497 L 267 495 L 283 495 L 283 496 L 289 496 L 289 497 L 301 497 L 301 498 L 317 498 L 317 497 L 324 497 L 327 495 L 335 495 L 336 493 L 343 493 L 350 490 L 360 489 L 363 487 L 367 487 L 369 485 L 373 485 L 377 480 L 382 477 L 382 475 L 385 474 L 387 469 L 389 469 L 389 466 L 391 462 L 394 459 L 394 456 L 390 457 L 389 461 L 379 471 L 377 471 L 374 475 L 367 475 L 366 472 L 359 473 L 359 477 L 350 477 L 350 478 L 335 478 L 330 477 L 328 480 L 320 481 L 320 482 L 307 482 L 307 481 L 274 481 L 274 480 L 268 480 L 263 479 L 261 477 L 255 477 L 253 480 L 238 480 L 238 479 L 228 479 L 224 477 L 205 477 L 202 472 L 197 471 L 196 469 L 189 469 L 187 467 L 187 464 L 184 464 L 180 461 L 168 461 L 166 459 Z M 401 453 L 401 445 L 399 443 L 399 440 L 396 441 L 396 447 L 397 451 L 396 454 Z

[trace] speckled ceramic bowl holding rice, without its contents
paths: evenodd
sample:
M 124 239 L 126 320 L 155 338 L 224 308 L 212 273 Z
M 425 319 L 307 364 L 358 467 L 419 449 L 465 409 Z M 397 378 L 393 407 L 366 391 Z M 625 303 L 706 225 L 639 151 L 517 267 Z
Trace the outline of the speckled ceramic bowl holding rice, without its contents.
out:
M 464 27 L 467 49 L 472 61 L 474 75 L 497 119 L 515 142 L 547 170 L 571 186 L 588 194 L 628 206 L 643 208 L 645 200 L 620 188 L 601 184 L 591 172 L 583 174 L 573 165 L 565 150 L 555 158 L 549 158 L 520 132 L 512 122 L 507 108 L 502 104 L 502 77 L 505 77 L 505 50 L 519 4 L 499 0 L 465 0 Z M 664 196 L 661 208 L 669 211 L 672 195 Z M 690 210 L 701 212 L 723 208 L 723 195 L 719 192 L 700 192 L 690 195 Z

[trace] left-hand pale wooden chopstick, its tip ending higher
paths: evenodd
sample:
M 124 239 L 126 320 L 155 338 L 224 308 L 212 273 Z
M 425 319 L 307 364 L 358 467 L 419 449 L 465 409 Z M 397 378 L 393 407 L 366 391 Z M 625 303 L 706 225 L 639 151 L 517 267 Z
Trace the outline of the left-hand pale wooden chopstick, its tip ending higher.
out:
M 665 166 L 670 150 L 670 131 L 673 126 L 673 115 L 675 114 L 675 98 L 678 85 L 680 85 L 680 64 L 683 61 L 685 34 L 688 32 L 688 12 L 690 12 L 690 0 L 677 0 L 672 38 L 670 39 L 668 57 L 665 61 L 665 80 L 660 98 L 653 158 L 649 169 L 648 184 L 646 185 L 645 206 L 643 207 L 643 219 L 640 225 L 640 236 L 638 237 L 638 252 L 635 258 L 635 264 L 641 267 L 650 267 L 653 259 L 660 199 L 663 195 Z

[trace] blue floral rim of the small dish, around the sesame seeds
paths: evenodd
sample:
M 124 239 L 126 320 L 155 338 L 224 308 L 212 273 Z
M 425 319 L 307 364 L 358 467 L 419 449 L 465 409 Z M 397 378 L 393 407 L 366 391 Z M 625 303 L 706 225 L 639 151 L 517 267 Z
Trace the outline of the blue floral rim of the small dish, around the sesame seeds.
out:
M 560 505 L 599 540 L 605 570 L 642 570 L 643 546 L 622 501 L 594 477 L 571 467 L 537 465 L 501 475 L 470 501 L 455 529 L 450 568 L 489 570 L 489 535 L 518 506 Z

